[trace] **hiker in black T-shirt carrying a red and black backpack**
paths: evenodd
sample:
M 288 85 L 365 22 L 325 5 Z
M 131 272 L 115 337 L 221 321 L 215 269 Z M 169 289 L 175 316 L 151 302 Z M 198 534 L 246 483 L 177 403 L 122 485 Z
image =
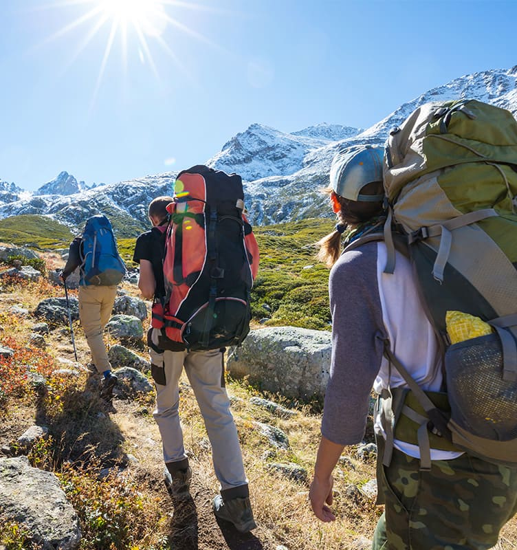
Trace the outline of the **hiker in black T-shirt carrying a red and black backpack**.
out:
M 133 261 L 140 264 L 142 295 L 154 300 L 148 332 L 156 388 L 153 416 L 162 436 L 168 493 L 175 504 L 190 498 L 192 470 L 178 414 L 179 377 L 185 369 L 221 484 L 212 509 L 245 533 L 256 525 L 224 383 L 225 346 L 239 344 L 249 330 L 252 261 L 242 210 L 239 176 L 206 166 L 185 170 L 177 177 L 174 197 L 151 201 L 153 228 L 138 237 Z

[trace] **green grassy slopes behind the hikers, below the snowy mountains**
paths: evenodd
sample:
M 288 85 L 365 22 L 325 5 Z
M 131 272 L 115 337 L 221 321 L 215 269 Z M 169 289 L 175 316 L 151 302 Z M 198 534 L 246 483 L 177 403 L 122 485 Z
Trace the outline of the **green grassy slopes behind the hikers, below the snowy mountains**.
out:
M 118 219 L 113 220 L 116 234 Z M 255 227 L 261 254 L 259 275 L 252 290 L 252 317 L 263 325 L 292 325 L 329 329 L 329 270 L 316 262 L 314 243 L 331 231 L 330 219 L 307 219 Z M 139 234 L 142 228 L 126 228 L 124 234 Z M 0 220 L 0 241 L 30 244 L 36 249 L 67 248 L 72 232 L 61 223 L 38 215 Z M 118 248 L 128 267 L 135 237 L 119 238 Z

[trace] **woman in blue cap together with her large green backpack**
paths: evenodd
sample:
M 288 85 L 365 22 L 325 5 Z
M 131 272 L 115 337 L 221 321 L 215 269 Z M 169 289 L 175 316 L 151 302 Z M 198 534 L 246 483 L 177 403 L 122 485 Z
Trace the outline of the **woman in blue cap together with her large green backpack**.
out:
M 424 105 L 386 154 L 352 146 L 331 166 L 338 225 L 319 257 L 331 267 L 332 356 L 309 499 L 336 519 L 333 468 L 364 438 L 373 388 L 384 504 L 373 550 L 488 549 L 517 512 L 517 123 L 465 103 Z M 494 117 L 512 137 L 494 135 Z M 459 137 L 465 118 L 483 143 Z M 491 156 L 490 140 L 513 140 L 512 155 Z

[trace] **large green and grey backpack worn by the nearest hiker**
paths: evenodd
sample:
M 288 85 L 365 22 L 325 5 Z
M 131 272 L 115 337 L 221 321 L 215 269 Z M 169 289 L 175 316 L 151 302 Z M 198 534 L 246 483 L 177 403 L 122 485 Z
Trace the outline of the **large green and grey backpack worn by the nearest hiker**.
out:
M 445 436 L 450 441 L 443 448 L 452 441 L 456 449 L 515 467 L 517 121 L 477 100 L 423 104 L 388 137 L 384 188 L 384 271 L 393 273 L 393 234 L 403 234 L 422 303 L 443 344 L 450 406 L 445 413 L 435 406 L 385 346 L 421 406 L 409 411 L 402 397 L 395 417 L 407 413 L 415 425 Z M 494 333 L 450 345 L 447 311 L 479 317 Z M 424 469 L 430 467 L 426 428 L 418 431 Z M 389 461 L 389 452 L 384 458 Z

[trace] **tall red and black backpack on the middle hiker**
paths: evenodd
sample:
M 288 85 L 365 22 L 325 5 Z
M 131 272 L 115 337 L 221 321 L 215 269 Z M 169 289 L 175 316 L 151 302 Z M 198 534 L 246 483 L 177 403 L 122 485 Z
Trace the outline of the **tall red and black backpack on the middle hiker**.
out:
M 162 329 L 160 347 L 217 349 L 248 335 L 259 248 L 243 199 L 237 174 L 197 165 L 177 176 L 167 207 L 166 296 L 153 306 L 151 322 Z

